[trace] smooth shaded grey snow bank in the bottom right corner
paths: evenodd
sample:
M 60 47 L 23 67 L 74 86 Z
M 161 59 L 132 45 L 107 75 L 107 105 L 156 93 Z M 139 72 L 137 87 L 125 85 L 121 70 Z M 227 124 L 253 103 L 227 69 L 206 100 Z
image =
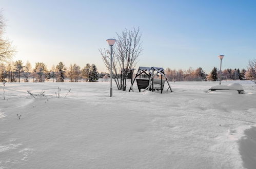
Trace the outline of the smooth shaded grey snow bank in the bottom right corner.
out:
M 243 166 L 253 168 L 256 166 L 256 127 L 244 131 L 244 136 L 239 140 L 239 152 L 242 156 Z

